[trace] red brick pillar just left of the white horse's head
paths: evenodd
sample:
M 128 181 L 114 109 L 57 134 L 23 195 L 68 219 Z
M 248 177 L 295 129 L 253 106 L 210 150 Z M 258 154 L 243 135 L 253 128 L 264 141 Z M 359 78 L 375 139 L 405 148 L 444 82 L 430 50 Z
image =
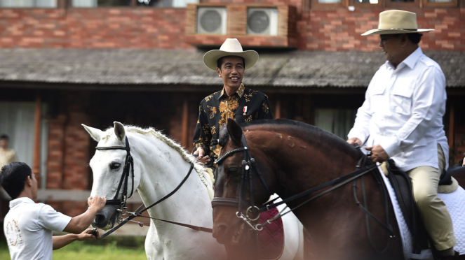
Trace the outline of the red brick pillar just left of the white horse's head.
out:
M 90 138 L 81 124 L 89 124 L 89 92 L 62 92 L 60 112 L 49 120 L 47 189 L 88 187 Z M 55 210 L 80 215 L 86 202 L 50 202 Z

